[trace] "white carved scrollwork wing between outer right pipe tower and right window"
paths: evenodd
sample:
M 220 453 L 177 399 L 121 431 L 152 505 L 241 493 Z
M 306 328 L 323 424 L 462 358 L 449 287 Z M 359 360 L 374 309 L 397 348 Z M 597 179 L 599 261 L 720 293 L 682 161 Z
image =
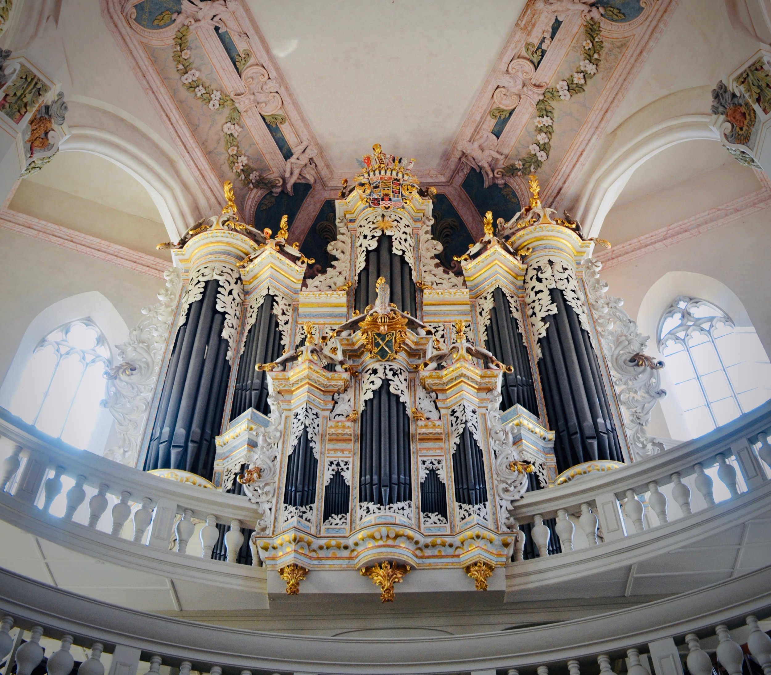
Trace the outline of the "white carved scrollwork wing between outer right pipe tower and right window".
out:
M 599 260 L 584 263 L 584 285 L 600 337 L 602 351 L 613 372 L 618 400 L 627 411 L 625 426 L 633 458 L 641 459 L 662 452 L 664 446 L 648 435 L 651 412 L 656 401 L 664 398 L 659 368 L 641 358 L 648 348 L 648 336 L 641 335 L 637 324 L 621 308 L 618 297 L 608 295 L 608 283 L 601 280 Z

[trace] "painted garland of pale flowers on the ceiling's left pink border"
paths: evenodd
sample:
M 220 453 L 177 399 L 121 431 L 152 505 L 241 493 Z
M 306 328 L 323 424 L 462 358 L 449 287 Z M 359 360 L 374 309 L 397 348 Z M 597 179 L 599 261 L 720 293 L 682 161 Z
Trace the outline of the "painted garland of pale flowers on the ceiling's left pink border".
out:
M 254 166 L 251 166 L 249 158 L 238 144 L 238 135 L 244 130 L 239 124 L 241 122 L 241 111 L 230 96 L 219 89 L 214 89 L 204 80 L 200 79 L 200 72 L 194 68 L 193 62 L 190 60 L 192 54 L 189 49 L 189 42 L 190 26 L 183 25 L 174 35 L 172 58 L 177 64 L 177 71 L 180 72 L 182 86 L 187 91 L 194 94 L 201 102 L 207 103 L 211 110 L 227 108 L 227 122 L 222 126 L 224 147 L 227 151 L 227 166 L 241 179 L 244 187 L 268 189 L 274 187 L 275 181 L 261 176 Z

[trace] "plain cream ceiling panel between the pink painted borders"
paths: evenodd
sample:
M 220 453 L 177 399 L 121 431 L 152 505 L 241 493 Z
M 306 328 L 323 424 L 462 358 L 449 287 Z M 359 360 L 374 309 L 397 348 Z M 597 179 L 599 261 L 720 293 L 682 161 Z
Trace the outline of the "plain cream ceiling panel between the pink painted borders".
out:
M 524 0 L 248 0 L 333 170 L 372 143 L 434 168 Z

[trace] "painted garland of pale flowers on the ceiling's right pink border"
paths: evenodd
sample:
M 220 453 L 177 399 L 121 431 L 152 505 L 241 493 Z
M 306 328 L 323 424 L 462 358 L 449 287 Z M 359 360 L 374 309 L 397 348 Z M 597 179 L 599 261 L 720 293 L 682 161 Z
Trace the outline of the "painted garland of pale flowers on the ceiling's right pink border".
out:
M 602 57 L 602 37 L 600 22 L 591 18 L 584 24 L 584 42 L 581 62 L 576 71 L 567 79 L 557 82 L 557 86 L 544 91 L 544 98 L 535 104 L 536 136 L 524 157 L 512 164 L 503 166 L 504 176 L 527 176 L 540 169 L 549 159 L 551 152 L 551 137 L 554 136 L 554 106 L 555 101 L 569 101 L 572 96 L 584 92 L 586 83 L 597 75 Z

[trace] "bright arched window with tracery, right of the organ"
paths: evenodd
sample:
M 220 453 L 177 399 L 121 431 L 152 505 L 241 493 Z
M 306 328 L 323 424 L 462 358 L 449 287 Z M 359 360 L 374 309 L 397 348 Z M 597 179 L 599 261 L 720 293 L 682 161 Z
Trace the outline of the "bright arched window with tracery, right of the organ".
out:
M 771 397 L 771 364 L 752 327 L 736 327 L 720 307 L 679 295 L 658 324 L 658 350 L 692 437 Z

